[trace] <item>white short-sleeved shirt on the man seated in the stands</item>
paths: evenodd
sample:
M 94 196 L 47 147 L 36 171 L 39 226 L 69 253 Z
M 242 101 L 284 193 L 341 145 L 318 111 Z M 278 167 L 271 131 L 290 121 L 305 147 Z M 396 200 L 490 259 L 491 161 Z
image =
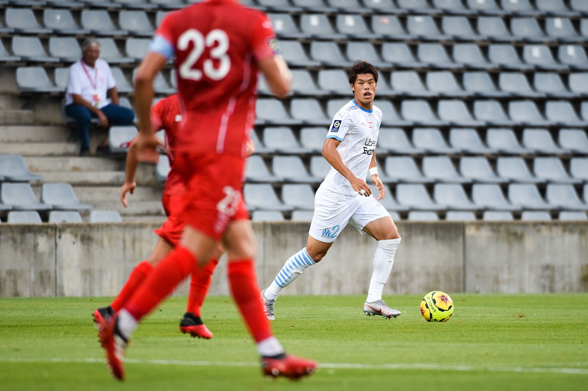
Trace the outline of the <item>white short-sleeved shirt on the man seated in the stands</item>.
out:
M 81 95 L 82 98 L 94 105 L 94 96 L 100 97 L 98 108 L 108 105 L 106 91 L 116 85 L 110 66 L 105 60 L 97 59 L 94 68 L 79 60 L 69 67 L 68 88 L 65 93 L 65 104 L 74 103 L 72 94 Z

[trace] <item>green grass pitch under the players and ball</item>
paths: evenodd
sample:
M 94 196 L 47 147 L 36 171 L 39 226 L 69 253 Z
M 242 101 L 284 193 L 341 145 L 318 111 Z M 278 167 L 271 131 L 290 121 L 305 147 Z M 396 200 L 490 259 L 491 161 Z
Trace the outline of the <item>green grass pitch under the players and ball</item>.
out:
M 281 296 L 276 335 L 323 364 L 302 382 L 260 375 L 227 297 L 205 302 L 210 341 L 179 332 L 185 298 L 169 299 L 133 335 L 123 383 L 91 321 L 108 298 L 0 299 L 0 390 L 586 389 L 588 295 L 448 293 L 446 323 L 427 323 L 416 295 L 384 298 L 403 312 L 392 320 L 365 316 L 364 296 Z

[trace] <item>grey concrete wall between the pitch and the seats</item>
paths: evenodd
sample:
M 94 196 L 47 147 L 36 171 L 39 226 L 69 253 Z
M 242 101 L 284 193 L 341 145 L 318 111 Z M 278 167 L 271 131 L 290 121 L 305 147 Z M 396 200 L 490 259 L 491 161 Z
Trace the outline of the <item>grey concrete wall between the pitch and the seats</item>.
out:
M 586 292 L 588 223 L 398 224 L 386 294 Z M 155 245 L 153 224 L 1 224 L 0 296 L 113 296 Z M 304 247 L 308 223 L 256 223 L 259 284 Z M 285 294 L 365 294 L 376 242 L 346 228 Z M 226 262 L 210 289 L 228 294 Z M 187 282 L 176 291 L 186 294 Z

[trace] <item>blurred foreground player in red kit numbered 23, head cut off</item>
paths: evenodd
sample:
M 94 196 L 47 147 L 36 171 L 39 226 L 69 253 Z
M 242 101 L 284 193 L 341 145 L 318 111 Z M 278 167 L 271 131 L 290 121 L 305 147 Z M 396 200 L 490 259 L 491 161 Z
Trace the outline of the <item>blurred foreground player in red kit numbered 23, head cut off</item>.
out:
M 243 200 L 248 135 L 255 122 L 257 73 L 278 96 L 291 74 L 263 12 L 235 0 L 208 0 L 168 14 L 155 33 L 135 79 L 139 150 L 153 150 L 149 106 L 153 79 L 175 55 L 182 122 L 173 148 L 188 193 L 180 243 L 156 265 L 123 308 L 99 333 L 113 376 L 124 377 L 123 355 L 138 322 L 176 285 L 204 267 L 222 241 L 228 254 L 231 295 L 257 344 L 269 376 L 308 376 L 316 362 L 286 355 L 263 312 L 256 282 L 255 237 Z

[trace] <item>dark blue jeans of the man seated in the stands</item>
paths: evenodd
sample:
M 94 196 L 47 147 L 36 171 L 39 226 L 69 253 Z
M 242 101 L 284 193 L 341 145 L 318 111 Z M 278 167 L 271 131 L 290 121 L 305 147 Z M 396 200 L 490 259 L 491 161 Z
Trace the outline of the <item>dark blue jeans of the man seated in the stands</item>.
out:
M 132 125 L 133 120 L 135 120 L 135 113 L 133 113 L 133 110 L 127 109 L 126 107 L 116 106 L 109 103 L 100 110 L 102 110 L 102 113 L 108 118 L 109 125 Z M 90 134 L 88 129 L 90 128 L 90 120 L 92 117 L 96 117 L 96 114 L 86 109 L 86 107 L 76 105 L 75 103 L 65 106 L 65 114 L 75 119 L 78 127 L 78 137 L 82 143 L 82 148 L 89 148 Z

